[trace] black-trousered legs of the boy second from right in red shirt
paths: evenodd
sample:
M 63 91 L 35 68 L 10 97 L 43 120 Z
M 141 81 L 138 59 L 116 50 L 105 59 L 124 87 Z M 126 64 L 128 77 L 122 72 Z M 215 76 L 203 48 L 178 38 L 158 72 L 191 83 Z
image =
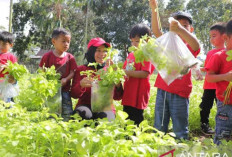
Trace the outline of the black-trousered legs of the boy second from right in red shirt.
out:
M 209 114 L 210 110 L 213 107 L 213 102 L 216 98 L 215 89 L 205 89 L 203 96 L 202 96 L 202 102 L 200 104 L 200 115 L 201 115 L 201 124 L 209 124 Z

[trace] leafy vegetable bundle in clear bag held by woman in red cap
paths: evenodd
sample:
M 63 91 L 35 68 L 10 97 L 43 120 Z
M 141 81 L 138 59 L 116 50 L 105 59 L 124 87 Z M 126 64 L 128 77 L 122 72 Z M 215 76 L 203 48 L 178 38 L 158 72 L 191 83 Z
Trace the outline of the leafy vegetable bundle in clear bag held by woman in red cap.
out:
M 108 49 L 106 59 L 112 60 L 118 53 L 115 49 Z M 90 63 L 89 66 L 97 67 L 98 63 Z M 96 68 L 95 68 L 96 69 Z M 124 81 L 125 72 L 120 64 L 112 64 L 98 71 L 87 70 L 81 72 L 93 79 L 91 88 L 91 109 L 93 112 L 110 111 L 113 103 L 114 86 Z

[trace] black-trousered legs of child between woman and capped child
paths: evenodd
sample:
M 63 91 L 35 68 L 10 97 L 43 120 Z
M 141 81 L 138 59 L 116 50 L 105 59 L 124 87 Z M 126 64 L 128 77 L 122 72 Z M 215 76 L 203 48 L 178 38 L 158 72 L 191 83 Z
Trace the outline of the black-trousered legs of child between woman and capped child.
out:
M 128 119 L 135 122 L 136 125 L 139 125 L 143 121 L 143 111 L 142 109 L 137 109 L 131 106 L 123 106 L 123 111 L 128 114 Z

